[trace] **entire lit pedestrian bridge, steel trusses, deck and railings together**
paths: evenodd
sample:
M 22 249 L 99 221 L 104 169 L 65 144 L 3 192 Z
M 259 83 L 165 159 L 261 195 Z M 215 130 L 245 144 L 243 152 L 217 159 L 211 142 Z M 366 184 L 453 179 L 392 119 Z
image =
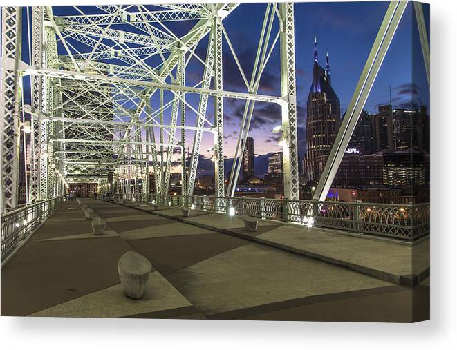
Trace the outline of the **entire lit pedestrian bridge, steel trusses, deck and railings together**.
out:
M 248 64 L 224 25 L 238 7 L 1 8 L 2 315 L 428 317 L 429 204 L 325 202 L 407 1 L 389 3 L 310 201 L 299 200 L 294 4 L 265 4 Z M 428 41 L 421 46 L 428 73 Z M 274 55 L 280 93 L 264 95 Z M 241 88 L 223 79 L 227 59 Z M 244 112 L 226 182 L 224 104 L 233 101 Z M 281 116 L 273 129 L 283 152 L 281 200 L 234 197 L 259 103 Z M 214 197 L 194 196 L 204 139 Z M 176 196 L 172 171 L 180 174 Z M 72 183 L 96 184 L 117 200 L 83 200 L 106 220 L 104 235 L 64 200 Z M 245 231 L 241 215 L 256 217 L 257 231 Z M 126 251 L 153 266 L 141 300 L 121 291 Z

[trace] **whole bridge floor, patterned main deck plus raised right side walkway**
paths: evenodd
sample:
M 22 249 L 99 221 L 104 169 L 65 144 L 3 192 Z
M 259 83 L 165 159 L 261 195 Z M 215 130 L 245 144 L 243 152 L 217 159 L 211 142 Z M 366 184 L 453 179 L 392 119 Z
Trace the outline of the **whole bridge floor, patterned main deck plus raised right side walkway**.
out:
M 239 215 L 195 208 L 185 217 L 179 206 L 130 200 L 82 203 L 106 220 L 104 235 L 93 235 L 75 200 L 56 199 L 46 208 L 29 208 L 30 221 L 17 229 L 25 232 L 29 225 L 34 233 L 17 236 L 14 249 L 2 245 L 2 253 L 9 249 L 2 256 L 2 315 L 391 322 L 428 317 L 428 237 L 412 243 L 261 218 L 250 232 Z M 32 215 L 49 216 L 34 223 Z M 2 217 L 2 235 L 4 224 Z M 126 251 L 153 265 L 141 300 L 122 293 L 118 260 Z M 423 314 L 413 313 L 416 303 Z

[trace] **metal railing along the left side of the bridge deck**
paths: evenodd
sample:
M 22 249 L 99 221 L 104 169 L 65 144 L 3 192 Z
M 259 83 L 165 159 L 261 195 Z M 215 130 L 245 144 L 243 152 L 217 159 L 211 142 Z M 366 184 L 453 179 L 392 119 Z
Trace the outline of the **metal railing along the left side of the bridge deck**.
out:
M 54 197 L 1 215 L 1 266 L 63 201 Z

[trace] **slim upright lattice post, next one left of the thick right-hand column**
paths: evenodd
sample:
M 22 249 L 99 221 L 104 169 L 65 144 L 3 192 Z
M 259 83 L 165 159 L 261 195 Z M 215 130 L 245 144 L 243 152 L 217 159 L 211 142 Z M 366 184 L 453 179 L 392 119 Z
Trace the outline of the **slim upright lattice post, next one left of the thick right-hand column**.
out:
M 217 13 L 215 14 L 217 16 Z M 214 17 L 213 31 L 214 47 L 214 90 L 223 90 L 222 81 L 222 23 Z M 224 115 L 223 99 L 221 96 L 214 97 L 214 185 L 216 197 L 224 197 Z

